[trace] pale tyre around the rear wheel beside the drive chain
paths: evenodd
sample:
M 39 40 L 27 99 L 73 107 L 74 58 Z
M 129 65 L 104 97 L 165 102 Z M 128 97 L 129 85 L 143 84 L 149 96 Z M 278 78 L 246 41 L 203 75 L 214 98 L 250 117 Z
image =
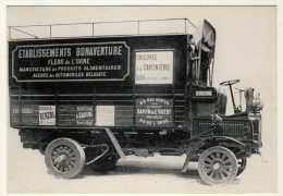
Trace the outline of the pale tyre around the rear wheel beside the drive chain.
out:
M 74 168 L 73 168 L 73 170 L 71 170 L 69 172 L 61 172 L 61 171 L 57 170 L 52 164 L 51 154 L 58 146 L 61 146 L 61 145 L 67 146 L 75 154 Z M 71 179 L 71 177 L 74 177 L 75 175 L 77 175 L 78 173 L 81 173 L 85 167 L 85 160 L 86 160 L 86 157 L 85 157 L 84 149 L 77 142 L 75 142 L 71 138 L 54 139 L 53 142 L 51 142 L 48 145 L 48 147 L 46 148 L 46 151 L 45 151 L 45 161 L 46 161 L 46 166 L 47 166 L 49 172 L 52 173 L 53 175 L 62 177 L 62 179 Z

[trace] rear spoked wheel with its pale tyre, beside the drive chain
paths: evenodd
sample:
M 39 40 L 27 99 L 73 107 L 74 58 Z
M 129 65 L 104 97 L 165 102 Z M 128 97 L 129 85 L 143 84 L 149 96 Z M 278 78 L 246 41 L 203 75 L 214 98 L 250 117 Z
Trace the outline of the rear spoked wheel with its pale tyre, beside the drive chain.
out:
M 85 166 L 85 151 L 70 138 L 58 138 L 45 151 L 48 170 L 56 176 L 71 179 L 82 172 Z

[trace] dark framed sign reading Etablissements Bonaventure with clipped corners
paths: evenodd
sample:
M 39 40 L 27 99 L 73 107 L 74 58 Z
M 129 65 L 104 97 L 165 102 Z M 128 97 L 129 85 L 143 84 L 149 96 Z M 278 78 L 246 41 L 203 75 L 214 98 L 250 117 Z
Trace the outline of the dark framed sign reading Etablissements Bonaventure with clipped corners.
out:
M 124 81 L 128 74 L 124 41 L 27 45 L 12 51 L 17 82 Z

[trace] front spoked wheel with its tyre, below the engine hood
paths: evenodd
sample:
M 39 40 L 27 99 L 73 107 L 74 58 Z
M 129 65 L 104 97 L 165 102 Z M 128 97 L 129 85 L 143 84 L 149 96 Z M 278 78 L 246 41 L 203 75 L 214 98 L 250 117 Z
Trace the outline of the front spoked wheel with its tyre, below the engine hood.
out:
M 216 146 L 201 154 L 198 160 L 198 173 L 207 184 L 225 184 L 237 174 L 237 159 L 227 148 Z

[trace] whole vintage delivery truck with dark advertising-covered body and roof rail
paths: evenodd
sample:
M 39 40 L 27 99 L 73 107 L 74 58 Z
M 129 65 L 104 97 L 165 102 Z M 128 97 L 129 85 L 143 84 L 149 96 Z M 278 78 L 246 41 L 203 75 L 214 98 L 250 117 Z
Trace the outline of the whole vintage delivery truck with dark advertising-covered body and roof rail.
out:
M 183 21 L 194 30 L 60 38 L 50 26 L 49 38 L 11 38 L 10 124 L 23 147 L 39 149 L 63 179 L 157 152 L 186 154 L 182 172 L 198 161 L 207 184 L 241 174 L 262 147 L 263 105 L 247 88 L 241 111 L 232 93 L 239 81 L 226 81 L 234 114 L 225 115 L 226 95 L 212 87 L 216 29 Z

